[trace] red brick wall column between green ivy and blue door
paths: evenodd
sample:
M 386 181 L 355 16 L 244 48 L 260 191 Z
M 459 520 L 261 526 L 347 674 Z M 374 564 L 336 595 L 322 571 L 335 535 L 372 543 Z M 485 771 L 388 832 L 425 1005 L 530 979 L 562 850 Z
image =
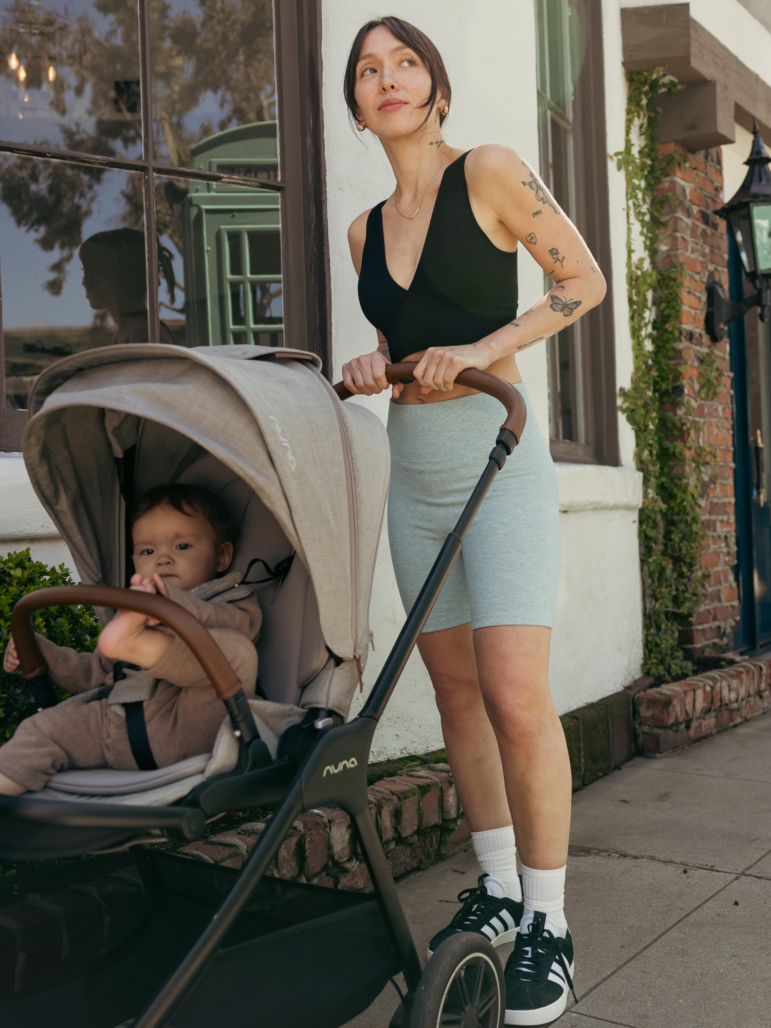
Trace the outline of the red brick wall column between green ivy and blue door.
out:
M 688 153 L 674 143 L 663 152 L 678 150 L 687 164 L 662 186 L 676 199 L 661 235 L 665 264 L 684 265 L 683 317 L 680 351 L 684 364 L 684 398 L 692 404 L 701 442 L 712 451 L 701 489 L 701 519 L 706 530 L 702 562 L 709 571 L 706 595 L 693 624 L 681 635 L 689 656 L 732 649 L 733 629 L 739 617 L 739 599 L 733 565 L 736 563 L 732 383 L 728 339 L 713 343 L 704 332 L 706 284 L 717 278 L 728 292 L 728 242 L 726 223 L 714 215 L 723 206 L 723 164 L 720 148 Z M 722 381 L 718 397 L 703 396 L 701 363 L 712 351 Z

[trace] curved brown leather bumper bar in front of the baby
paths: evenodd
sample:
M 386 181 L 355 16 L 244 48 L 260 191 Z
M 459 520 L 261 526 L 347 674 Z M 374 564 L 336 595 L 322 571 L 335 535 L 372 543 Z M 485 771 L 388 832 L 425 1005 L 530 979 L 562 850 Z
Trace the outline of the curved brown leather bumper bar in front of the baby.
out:
M 118 611 L 136 611 L 148 618 L 157 618 L 187 644 L 206 671 L 217 696 L 226 700 L 242 688 L 224 653 L 196 617 L 184 607 L 166 596 L 134 589 L 117 589 L 111 585 L 60 585 L 37 589 L 22 596 L 10 616 L 10 630 L 25 678 L 44 674 L 47 670 L 35 638 L 32 616 L 42 607 L 63 603 L 91 603 Z

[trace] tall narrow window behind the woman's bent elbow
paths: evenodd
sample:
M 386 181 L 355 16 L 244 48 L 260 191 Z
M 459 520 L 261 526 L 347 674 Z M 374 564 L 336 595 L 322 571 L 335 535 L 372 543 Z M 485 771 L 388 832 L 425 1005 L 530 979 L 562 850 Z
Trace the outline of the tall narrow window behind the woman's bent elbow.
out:
M 599 4 L 536 0 L 541 175 L 609 284 L 610 225 Z M 613 302 L 548 342 L 555 461 L 617 465 Z

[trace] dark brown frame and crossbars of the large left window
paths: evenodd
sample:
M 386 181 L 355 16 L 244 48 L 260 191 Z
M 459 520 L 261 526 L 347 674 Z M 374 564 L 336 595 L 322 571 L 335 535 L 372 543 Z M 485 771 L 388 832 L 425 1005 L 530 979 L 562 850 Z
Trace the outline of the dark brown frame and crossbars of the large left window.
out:
M 244 185 L 281 193 L 282 276 L 285 345 L 317 354 L 331 373 L 329 245 L 326 224 L 324 125 L 321 103 L 321 0 L 273 0 L 273 46 L 278 95 L 280 173 L 274 182 L 180 168 L 155 159 L 150 100 L 150 14 L 148 0 L 137 0 L 140 46 L 143 156 L 99 157 L 59 147 L 0 140 L 0 152 L 44 157 L 99 168 L 140 172 L 143 178 L 147 281 L 158 281 L 155 246 L 155 176 Z M 152 244 L 152 245 L 150 245 Z M 157 342 L 160 311 L 157 290 L 147 291 L 148 334 Z M 19 452 L 26 410 L 5 409 L 5 343 L 2 330 L 0 262 L 0 452 Z

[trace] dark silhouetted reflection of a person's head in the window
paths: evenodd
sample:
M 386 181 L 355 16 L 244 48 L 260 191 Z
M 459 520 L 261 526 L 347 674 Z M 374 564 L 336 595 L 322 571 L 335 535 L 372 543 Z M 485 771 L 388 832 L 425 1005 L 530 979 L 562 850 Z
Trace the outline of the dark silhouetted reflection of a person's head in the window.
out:
M 97 232 L 80 247 L 83 288 L 95 310 L 107 310 L 117 326 L 113 343 L 149 342 L 145 234 L 136 228 Z M 177 286 L 171 250 L 158 241 L 158 269 L 170 302 Z M 158 342 L 177 339 L 161 321 Z

